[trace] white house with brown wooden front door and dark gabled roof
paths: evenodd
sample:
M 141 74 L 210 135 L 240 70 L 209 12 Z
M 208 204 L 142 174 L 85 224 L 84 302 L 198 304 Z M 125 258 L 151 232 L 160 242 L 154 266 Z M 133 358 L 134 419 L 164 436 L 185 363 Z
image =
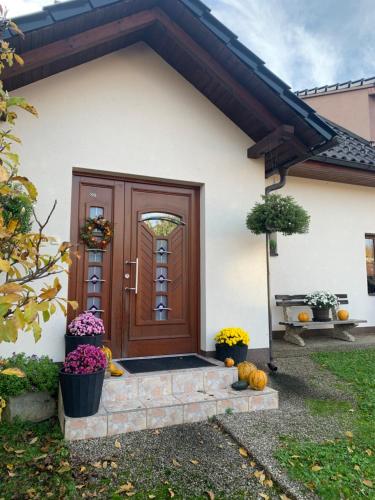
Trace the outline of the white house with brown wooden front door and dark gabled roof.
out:
M 49 233 L 80 253 L 62 292 L 103 318 L 115 357 L 209 354 L 220 328 L 241 326 L 252 358 L 267 358 L 265 239 L 245 216 L 266 177 L 300 175 L 337 130 L 200 0 L 72 0 L 17 23 L 25 37 L 7 38 L 25 65 L 5 73 L 5 87 L 40 114 L 18 123 L 22 172 L 39 187 L 41 215 L 58 201 Z M 372 188 L 310 177 L 288 181 L 312 232 L 280 238 L 274 290 L 351 292 L 364 234 L 375 232 Z M 98 215 L 113 225 L 104 252 L 80 239 Z M 23 334 L 1 354 L 61 360 L 65 331 L 56 315 L 39 343 Z

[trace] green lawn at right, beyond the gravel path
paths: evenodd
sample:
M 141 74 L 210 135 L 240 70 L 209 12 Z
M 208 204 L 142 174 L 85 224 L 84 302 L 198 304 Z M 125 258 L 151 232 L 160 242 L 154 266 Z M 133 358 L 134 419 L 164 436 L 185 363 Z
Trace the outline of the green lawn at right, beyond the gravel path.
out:
M 356 403 L 307 401 L 316 418 L 337 419 L 337 438 L 324 442 L 287 438 L 276 456 L 292 478 L 323 499 L 375 499 L 375 351 L 312 357 L 345 382 Z

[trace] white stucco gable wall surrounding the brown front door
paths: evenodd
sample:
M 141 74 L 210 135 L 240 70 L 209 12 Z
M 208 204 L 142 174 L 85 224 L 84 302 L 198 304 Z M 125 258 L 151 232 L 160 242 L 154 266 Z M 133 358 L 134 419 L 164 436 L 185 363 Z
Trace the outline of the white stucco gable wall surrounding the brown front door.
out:
M 262 160 L 246 158 L 250 139 L 144 44 L 17 91 L 34 104 L 22 116 L 22 168 L 39 187 L 38 211 L 58 200 L 49 233 L 69 239 L 72 169 L 107 170 L 201 183 L 202 340 L 241 326 L 251 347 L 268 346 L 265 246 L 245 228 L 264 191 Z M 64 287 L 66 292 L 66 283 Z M 21 335 L 13 350 L 62 359 L 65 319 L 43 326 L 38 344 Z

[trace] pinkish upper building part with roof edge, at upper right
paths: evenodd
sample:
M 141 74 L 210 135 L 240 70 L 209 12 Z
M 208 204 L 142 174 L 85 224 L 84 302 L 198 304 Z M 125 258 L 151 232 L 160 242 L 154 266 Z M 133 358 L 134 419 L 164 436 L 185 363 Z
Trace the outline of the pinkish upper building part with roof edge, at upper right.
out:
M 299 90 L 296 94 L 322 116 L 375 141 L 375 76 Z

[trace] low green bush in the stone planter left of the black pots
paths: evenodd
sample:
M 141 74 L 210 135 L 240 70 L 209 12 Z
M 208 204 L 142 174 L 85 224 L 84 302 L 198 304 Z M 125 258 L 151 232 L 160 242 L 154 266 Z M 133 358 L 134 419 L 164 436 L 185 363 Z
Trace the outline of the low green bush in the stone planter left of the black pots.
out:
M 56 395 L 59 379 L 59 368 L 48 356 L 26 356 L 13 354 L 5 361 L 3 368 L 19 368 L 26 377 L 2 375 L 0 371 L 0 396 L 8 399 L 10 396 L 19 396 L 26 392 L 46 391 Z

